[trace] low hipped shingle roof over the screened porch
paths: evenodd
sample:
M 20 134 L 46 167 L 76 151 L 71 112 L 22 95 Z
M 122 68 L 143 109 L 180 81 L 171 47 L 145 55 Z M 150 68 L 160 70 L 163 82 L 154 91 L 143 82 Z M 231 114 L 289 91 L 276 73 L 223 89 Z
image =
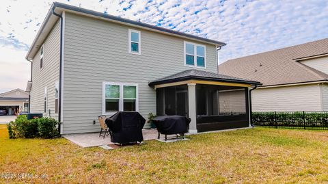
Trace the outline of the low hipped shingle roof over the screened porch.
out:
M 184 70 L 180 73 L 176 73 L 174 75 L 169 75 L 167 77 L 163 77 L 161 79 L 157 79 L 149 83 L 149 86 L 154 86 L 162 83 L 170 83 L 176 81 L 185 81 L 189 79 L 200 79 L 200 80 L 208 80 L 208 81 L 225 81 L 225 82 L 233 82 L 233 83 L 249 83 L 260 85 L 257 81 L 250 81 L 246 79 L 241 79 L 238 77 L 231 77 L 228 75 L 219 75 L 216 73 L 209 73 L 202 70 Z

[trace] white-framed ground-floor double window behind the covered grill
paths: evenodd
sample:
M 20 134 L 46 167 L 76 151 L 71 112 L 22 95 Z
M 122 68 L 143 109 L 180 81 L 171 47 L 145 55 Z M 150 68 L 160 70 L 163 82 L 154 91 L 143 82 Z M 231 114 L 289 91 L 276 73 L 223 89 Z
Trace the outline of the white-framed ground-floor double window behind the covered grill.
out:
M 102 83 L 102 114 L 110 115 L 117 111 L 139 111 L 136 83 Z

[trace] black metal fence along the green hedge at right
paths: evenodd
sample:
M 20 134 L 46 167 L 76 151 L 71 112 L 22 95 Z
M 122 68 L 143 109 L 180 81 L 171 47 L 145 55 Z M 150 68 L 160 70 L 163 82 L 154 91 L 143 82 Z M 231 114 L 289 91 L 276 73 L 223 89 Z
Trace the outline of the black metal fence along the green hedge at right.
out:
M 253 112 L 252 124 L 271 128 L 327 129 L 328 111 Z

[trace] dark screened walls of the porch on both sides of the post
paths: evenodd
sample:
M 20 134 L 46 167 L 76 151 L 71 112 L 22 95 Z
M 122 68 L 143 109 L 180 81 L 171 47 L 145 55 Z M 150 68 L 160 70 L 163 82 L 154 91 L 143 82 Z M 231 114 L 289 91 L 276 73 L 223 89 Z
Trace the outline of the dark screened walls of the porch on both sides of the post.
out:
M 248 88 L 195 85 L 197 132 L 249 126 Z M 157 116 L 189 117 L 188 85 L 156 89 Z

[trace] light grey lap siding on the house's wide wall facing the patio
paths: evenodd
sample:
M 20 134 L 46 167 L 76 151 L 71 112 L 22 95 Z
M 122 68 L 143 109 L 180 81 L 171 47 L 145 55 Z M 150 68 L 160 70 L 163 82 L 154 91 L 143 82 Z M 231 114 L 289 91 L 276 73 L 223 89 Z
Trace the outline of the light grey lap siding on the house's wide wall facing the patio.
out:
M 156 113 L 156 93 L 148 82 L 191 69 L 184 66 L 184 40 L 174 36 L 139 29 L 141 55 L 129 54 L 129 28 L 135 29 L 66 14 L 64 133 L 99 131 L 103 81 L 138 83 L 139 112 L 147 118 Z M 206 67 L 200 70 L 217 71 L 214 45 L 206 44 Z

